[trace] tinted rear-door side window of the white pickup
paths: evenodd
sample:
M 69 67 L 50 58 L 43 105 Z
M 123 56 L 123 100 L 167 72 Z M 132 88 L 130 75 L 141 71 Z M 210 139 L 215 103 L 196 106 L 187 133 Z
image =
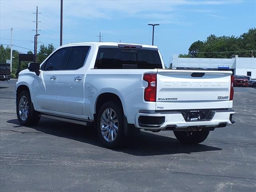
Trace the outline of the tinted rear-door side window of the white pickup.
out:
M 68 58 L 66 70 L 78 69 L 84 65 L 84 60 L 88 54 L 89 46 L 73 47 Z

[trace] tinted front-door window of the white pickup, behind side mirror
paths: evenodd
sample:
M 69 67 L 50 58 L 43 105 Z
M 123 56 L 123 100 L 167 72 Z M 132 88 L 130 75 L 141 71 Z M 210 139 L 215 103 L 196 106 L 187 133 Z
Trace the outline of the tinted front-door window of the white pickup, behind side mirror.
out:
M 64 70 L 71 47 L 62 48 L 56 51 L 45 64 L 44 70 Z

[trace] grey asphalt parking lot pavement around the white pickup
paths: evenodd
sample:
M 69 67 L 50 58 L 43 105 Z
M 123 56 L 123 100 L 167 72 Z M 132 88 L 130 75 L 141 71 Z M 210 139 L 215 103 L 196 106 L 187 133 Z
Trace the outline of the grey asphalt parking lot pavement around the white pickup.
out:
M 92 127 L 45 118 L 21 126 L 15 82 L 0 82 L 1 192 L 256 191 L 254 88 L 235 88 L 236 123 L 202 144 L 180 144 L 172 131 L 141 132 L 111 150 Z

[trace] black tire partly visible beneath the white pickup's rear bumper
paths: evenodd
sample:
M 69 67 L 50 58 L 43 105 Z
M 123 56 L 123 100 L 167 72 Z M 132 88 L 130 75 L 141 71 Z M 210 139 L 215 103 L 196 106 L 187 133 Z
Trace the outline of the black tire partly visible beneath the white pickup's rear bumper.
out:
M 209 131 L 174 131 L 179 142 L 184 144 L 198 144 L 206 140 Z

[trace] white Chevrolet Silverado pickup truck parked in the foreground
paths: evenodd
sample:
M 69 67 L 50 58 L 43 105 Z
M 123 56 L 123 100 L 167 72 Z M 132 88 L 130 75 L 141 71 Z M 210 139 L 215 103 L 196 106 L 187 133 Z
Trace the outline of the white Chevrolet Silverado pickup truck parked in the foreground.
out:
M 166 70 L 156 46 L 68 44 L 20 72 L 16 111 L 24 126 L 40 117 L 94 125 L 108 148 L 140 129 L 172 130 L 180 142 L 197 144 L 234 123 L 231 74 Z

